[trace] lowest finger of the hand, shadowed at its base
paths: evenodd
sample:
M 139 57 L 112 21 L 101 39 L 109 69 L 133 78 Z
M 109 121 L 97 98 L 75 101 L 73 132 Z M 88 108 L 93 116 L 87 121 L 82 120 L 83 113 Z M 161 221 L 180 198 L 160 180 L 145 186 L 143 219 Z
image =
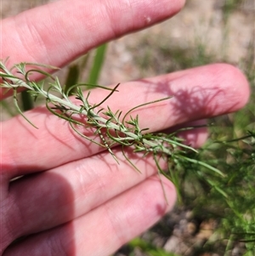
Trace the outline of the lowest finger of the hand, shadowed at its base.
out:
M 110 255 L 173 208 L 173 184 L 161 179 L 168 204 L 158 177 L 151 177 L 68 224 L 14 244 L 3 256 Z

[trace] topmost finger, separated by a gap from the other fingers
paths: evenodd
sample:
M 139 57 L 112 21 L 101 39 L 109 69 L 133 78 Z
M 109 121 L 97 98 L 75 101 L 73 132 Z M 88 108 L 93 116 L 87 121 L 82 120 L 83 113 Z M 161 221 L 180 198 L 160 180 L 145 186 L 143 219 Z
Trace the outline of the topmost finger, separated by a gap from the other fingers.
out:
M 101 43 L 166 20 L 183 6 L 184 0 L 48 3 L 2 21 L 0 59 L 60 67 Z

